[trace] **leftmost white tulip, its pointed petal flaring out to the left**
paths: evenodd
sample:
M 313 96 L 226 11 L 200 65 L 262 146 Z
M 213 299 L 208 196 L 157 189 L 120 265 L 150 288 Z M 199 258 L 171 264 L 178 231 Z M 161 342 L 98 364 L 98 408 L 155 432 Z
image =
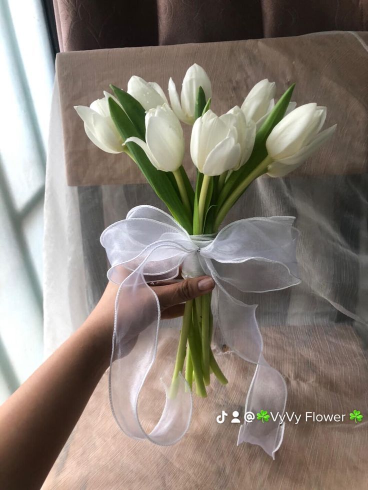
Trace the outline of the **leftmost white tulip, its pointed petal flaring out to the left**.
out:
M 108 92 L 103 94 L 103 99 L 94 100 L 89 107 L 76 105 L 74 109 L 83 120 L 85 134 L 92 143 L 107 153 L 122 153 L 124 140 L 111 119 L 107 99 L 117 100 Z

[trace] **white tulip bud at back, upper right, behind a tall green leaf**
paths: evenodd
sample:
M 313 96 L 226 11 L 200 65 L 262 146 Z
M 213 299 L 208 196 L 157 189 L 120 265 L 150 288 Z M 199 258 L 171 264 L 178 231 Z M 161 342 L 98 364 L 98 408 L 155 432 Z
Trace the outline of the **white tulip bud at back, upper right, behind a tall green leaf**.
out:
M 241 104 L 247 121 L 253 120 L 257 129 L 274 107 L 275 83 L 269 82 L 267 78 L 260 80 L 250 90 Z

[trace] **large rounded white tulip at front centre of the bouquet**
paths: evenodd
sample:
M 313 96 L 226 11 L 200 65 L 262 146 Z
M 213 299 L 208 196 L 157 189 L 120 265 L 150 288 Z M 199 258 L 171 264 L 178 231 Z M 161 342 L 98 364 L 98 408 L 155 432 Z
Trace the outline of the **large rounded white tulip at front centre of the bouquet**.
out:
M 224 114 L 226 115 L 226 114 Z M 241 157 L 236 127 L 229 118 L 208 110 L 194 122 L 190 155 L 197 169 L 205 175 L 221 175 L 236 168 Z

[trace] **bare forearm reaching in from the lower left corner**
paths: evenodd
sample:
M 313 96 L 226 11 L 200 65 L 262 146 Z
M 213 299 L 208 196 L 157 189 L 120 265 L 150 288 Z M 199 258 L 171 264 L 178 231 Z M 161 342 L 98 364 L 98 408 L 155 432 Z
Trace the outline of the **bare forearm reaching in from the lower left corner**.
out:
M 109 364 L 111 319 L 91 315 L 0 407 L 0 487 L 39 489 Z

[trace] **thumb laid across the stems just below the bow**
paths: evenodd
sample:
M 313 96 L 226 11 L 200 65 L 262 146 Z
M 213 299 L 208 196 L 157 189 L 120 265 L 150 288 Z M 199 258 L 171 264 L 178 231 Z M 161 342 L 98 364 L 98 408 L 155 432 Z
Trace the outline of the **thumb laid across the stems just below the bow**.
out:
M 161 308 L 164 309 L 202 296 L 212 291 L 213 288 L 213 279 L 209 276 L 201 276 L 184 279 L 167 286 L 153 287 L 152 289 L 158 297 Z

